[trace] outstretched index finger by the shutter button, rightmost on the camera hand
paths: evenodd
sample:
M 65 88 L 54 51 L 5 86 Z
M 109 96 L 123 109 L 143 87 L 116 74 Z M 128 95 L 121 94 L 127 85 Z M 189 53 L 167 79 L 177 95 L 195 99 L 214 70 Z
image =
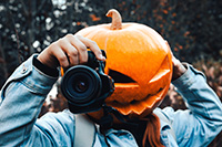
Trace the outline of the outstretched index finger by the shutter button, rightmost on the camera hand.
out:
M 98 60 L 101 61 L 105 61 L 105 57 L 102 55 L 102 52 L 100 50 L 100 48 L 98 46 L 98 44 L 94 41 L 91 41 L 87 38 L 83 38 L 81 35 L 77 35 L 77 38 L 84 43 L 84 45 L 87 45 L 88 48 L 90 48 L 90 50 L 94 53 L 95 57 Z

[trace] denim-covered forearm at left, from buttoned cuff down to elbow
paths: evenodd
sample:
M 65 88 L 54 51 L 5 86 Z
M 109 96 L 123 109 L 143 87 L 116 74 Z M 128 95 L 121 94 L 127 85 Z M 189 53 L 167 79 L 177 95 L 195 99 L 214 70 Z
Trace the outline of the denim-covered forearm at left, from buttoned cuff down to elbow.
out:
M 0 146 L 22 146 L 57 81 L 38 71 L 32 59 L 21 64 L 1 90 Z

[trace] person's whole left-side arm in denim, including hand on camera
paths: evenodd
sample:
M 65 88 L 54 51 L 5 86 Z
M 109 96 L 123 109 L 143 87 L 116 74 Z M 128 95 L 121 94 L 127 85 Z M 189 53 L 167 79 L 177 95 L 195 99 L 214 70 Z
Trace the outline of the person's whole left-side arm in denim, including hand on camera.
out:
M 104 60 L 94 42 L 71 34 L 52 43 L 37 60 L 50 69 L 73 66 L 88 61 L 87 48 L 94 52 L 98 60 Z M 33 56 L 13 72 L 0 93 L 0 146 L 71 144 L 74 119 L 69 113 L 46 115 L 37 122 L 44 98 L 57 78 L 36 67 Z

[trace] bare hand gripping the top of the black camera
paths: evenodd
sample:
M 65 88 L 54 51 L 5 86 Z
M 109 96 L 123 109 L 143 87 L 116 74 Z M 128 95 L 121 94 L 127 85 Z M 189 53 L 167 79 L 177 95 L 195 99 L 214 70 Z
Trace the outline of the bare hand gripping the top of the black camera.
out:
M 68 67 L 88 62 L 90 49 L 98 60 L 104 61 L 98 44 L 81 35 L 67 34 L 42 51 L 38 60 L 49 67 Z

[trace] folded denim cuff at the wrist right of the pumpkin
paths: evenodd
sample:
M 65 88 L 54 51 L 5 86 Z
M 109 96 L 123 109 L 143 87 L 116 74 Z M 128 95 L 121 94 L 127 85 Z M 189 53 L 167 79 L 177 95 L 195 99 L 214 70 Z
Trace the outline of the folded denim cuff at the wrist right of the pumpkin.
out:
M 185 91 L 188 87 L 190 87 L 195 82 L 195 75 L 201 75 L 205 78 L 204 74 L 198 70 L 195 70 L 192 65 L 188 63 L 183 63 L 183 65 L 186 67 L 186 71 L 183 75 L 181 75 L 179 78 L 172 81 L 172 84 L 179 90 L 179 91 Z

